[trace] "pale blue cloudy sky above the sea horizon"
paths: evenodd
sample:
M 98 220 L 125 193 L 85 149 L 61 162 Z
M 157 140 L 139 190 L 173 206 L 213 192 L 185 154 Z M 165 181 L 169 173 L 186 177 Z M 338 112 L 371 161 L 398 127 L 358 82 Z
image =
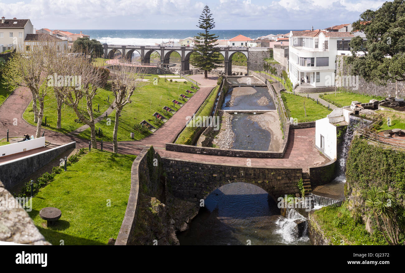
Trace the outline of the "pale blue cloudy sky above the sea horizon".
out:
M 18 2 L 16 2 L 18 1 Z M 216 29 L 324 29 L 381 0 L 0 0 L 0 16 L 50 29 L 197 29 L 207 4 Z

